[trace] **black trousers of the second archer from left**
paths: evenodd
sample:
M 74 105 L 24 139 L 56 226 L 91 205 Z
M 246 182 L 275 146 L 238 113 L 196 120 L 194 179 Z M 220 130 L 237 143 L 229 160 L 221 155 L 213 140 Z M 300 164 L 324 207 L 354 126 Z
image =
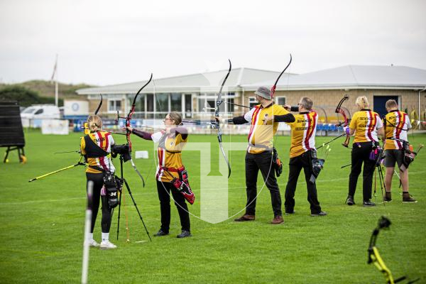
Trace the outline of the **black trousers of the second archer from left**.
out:
M 170 229 L 170 192 L 175 200 L 176 208 L 180 217 L 182 230 L 190 231 L 190 213 L 188 211 L 185 197 L 170 182 L 159 182 L 157 180 L 158 199 L 160 200 L 161 229 L 168 233 Z

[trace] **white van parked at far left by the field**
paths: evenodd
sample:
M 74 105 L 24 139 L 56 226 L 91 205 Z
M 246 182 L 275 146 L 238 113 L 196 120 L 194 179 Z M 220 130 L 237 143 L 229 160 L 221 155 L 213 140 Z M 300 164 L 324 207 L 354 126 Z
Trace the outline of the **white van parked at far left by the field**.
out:
M 23 127 L 40 127 L 45 119 L 59 119 L 59 108 L 54 104 L 33 104 L 21 112 Z

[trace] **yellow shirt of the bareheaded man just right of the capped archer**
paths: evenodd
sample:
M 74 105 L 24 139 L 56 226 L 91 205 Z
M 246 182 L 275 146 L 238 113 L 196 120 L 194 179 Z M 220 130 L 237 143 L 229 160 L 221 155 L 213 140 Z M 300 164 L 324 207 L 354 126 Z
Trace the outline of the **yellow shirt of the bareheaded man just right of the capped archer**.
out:
M 291 127 L 290 158 L 315 149 L 318 115 L 315 111 L 295 114 L 295 121 L 288 123 Z

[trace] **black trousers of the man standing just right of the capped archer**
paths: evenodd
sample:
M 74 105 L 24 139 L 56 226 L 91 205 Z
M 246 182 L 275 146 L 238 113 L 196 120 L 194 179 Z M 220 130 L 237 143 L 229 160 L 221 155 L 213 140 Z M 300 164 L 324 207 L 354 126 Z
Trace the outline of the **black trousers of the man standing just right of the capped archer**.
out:
M 288 182 L 285 187 L 285 212 L 293 213 L 295 209 L 295 191 L 297 186 L 297 179 L 299 178 L 300 171 L 303 168 L 305 173 L 306 187 L 307 187 L 307 201 L 310 203 L 311 214 L 318 214 L 321 212 L 320 202 L 317 197 L 317 185 L 312 184 L 309 180 L 312 175 L 312 166 L 310 163 L 310 151 L 298 155 L 297 157 L 290 158 Z

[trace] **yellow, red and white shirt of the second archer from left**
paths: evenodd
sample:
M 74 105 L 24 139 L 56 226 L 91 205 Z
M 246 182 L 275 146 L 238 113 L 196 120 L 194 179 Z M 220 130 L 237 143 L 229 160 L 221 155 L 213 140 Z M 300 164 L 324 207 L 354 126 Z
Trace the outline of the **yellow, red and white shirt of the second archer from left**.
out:
M 165 170 L 164 168 L 178 170 L 182 164 L 182 149 L 188 140 L 182 134 L 168 134 L 164 131 L 156 132 L 151 135 L 155 143 L 158 143 L 158 167 L 157 180 L 163 182 L 171 182 L 173 178 L 179 178 L 179 174 L 175 171 Z

